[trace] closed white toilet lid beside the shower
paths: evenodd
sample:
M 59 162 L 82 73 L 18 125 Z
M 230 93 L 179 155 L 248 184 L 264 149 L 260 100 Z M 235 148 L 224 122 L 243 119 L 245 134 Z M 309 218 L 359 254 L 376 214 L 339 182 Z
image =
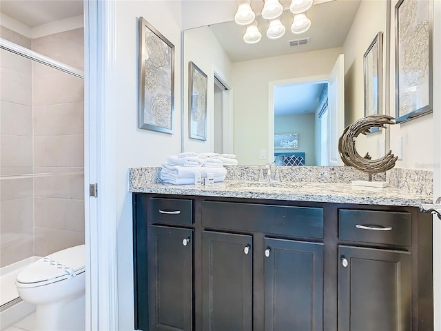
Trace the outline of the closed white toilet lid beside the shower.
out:
M 17 275 L 17 283 L 60 281 L 84 271 L 85 245 L 78 245 L 35 261 Z

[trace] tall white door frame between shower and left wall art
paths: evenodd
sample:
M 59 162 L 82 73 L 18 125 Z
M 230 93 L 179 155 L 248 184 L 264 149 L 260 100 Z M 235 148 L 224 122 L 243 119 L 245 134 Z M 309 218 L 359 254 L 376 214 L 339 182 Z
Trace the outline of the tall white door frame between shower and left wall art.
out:
M 85 330 L 118 330 L 115 1 L 84 0 Z M 102 165 L 105 164 L 106 167 Z M 89 197 L 89 184 L 98 197 Z

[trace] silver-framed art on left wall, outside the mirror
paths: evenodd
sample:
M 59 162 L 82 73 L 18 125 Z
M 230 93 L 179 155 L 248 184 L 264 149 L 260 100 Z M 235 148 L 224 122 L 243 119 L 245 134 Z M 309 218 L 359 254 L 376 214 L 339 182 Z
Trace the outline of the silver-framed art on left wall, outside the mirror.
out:
M 139 18 L 138 127 L 174 132 L 174 45 Z

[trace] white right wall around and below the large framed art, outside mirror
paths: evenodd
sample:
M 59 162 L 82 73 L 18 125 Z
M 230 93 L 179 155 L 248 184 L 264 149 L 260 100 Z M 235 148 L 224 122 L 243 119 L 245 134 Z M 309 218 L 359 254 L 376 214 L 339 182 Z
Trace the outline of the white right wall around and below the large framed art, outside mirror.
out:
M 395 6 L 398 1 L 391 1 L 391 84 L 390 112 L 395 117 Z M 434 39 L 435 40 L 435 39 Z M 434 61 L 437 61 L 434 59 Z M 433 90 L 433 94 L 437 93 Z M 402 160 L 396 162 L 398 168 L 433 170 L 433 114 L 399 123 L 390 128 L 391 150 L 396 154 L 396 141 L 402 137 Z

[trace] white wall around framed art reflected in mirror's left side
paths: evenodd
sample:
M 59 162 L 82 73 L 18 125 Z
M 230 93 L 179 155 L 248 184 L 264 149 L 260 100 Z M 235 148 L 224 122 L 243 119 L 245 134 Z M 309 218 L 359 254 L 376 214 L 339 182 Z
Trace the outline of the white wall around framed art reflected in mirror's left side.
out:
M 207 75 L 207 140 L 189 139 L 188 83 L 189 61 Z M 220 47 L 209 27 L 185 30 L 184 35 L 184 150 L 185 152 L 212 152 L 214 149 L 214 73 L 231 86 L 232 63 Z

